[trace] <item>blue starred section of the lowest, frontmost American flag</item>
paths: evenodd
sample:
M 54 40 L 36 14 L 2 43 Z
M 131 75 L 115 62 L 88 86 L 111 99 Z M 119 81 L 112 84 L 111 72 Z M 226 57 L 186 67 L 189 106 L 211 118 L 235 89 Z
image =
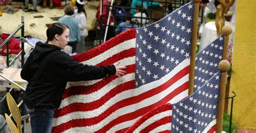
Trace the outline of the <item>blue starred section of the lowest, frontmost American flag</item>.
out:
M 172 105 L 172 132 L 215 131 L 220 75 L 220 71 L 215 73 L 190 97 Z

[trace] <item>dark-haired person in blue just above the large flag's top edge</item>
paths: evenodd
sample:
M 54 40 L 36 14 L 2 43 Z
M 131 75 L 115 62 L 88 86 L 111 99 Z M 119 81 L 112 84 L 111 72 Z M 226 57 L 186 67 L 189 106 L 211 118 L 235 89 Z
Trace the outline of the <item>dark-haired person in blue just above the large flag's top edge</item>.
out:
M 121 32 L 124 32 L 126 31 L 127 29 L 130 29 L 130 28 L 138 28 L 138 25 L 134 25 L 133 21 L 132 20 L 132 14 L 131 13 L 126 13 L 125 14 L 125 21 L 120 23 L 116 28 L 116 34 L 119 34 Z

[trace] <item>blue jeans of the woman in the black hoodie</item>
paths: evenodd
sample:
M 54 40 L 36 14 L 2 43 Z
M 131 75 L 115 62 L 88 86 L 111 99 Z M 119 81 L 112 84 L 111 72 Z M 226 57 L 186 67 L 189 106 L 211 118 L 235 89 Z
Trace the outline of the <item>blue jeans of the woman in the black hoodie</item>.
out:
M 25 105 L 30 115 L 30 124 L 32 133 L 51 132 L 53 123 L 53 108 L 50 107 L 31 107 Z

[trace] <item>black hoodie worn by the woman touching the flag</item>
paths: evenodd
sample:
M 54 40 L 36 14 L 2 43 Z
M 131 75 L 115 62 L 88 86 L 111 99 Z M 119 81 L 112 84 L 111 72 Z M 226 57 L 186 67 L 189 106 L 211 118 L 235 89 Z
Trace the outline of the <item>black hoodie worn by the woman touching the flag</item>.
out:
M 114 65 L 84 65 L 57 46 L 37 42 L 21 71 L 22 79 L 29 82 L 23 101 L 32 107 L 58 108 L 67 82 L 100 79 L 115 73 Z

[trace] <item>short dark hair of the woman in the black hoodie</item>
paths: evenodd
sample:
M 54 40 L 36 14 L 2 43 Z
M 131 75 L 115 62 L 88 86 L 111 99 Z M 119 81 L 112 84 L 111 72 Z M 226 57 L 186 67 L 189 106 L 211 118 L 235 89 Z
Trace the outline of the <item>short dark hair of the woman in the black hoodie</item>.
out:
M 46 35 L 47 35 L 46 43 L 48 43 L 48 41 L 52 41 L 56 34 L 61 35 L 66 28 L 69 29 L 69 26 L 66 26 L 62 23 L 53 23 L 53 24 L 51 24 L 48 27 L 48 29 L 46 30 Z

